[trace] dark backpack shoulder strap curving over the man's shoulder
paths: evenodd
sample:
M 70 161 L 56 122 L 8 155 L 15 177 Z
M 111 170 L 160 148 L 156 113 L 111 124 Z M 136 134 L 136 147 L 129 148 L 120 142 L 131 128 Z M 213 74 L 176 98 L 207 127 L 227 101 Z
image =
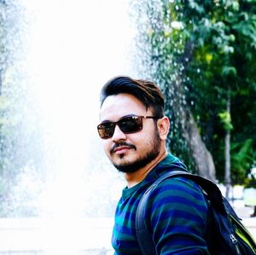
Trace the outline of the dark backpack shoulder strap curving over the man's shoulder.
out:
M 144 255 L 156 255 L 154 241 L 152 240 L 152 235 L 148 231 L 147 224 L 144 218 L 148 197 L 151 190 L 153 190 L 159 183 L 163 182 L 164 180 L 170 177 L 188 177 L 189 179 L 192 179 L 195 183 L 201 186 L 201 188 L 207 193 L 209 200 L 211 201 L 212 204 L 215 204 L 216 208 L 219 209 L 219 212 L 222 214 L 226 214 L 224 204 L 222 203 L 223 196 L 215 183 L 212 183 L 212 181 L 204 177 L 186 171 L 169 171 L 160 178 L 158 178 L 146 190 L 137 207 L 135 221 L 137 241 Z

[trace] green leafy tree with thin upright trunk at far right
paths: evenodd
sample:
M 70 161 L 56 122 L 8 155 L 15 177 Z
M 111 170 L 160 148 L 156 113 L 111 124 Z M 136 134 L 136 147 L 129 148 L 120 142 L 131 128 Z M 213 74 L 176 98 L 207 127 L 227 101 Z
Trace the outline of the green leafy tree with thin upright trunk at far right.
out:
M 256 76 L 252 72 L 256 56 L 255 3 L 255 1 L 219 1 L 218 4 L 210 6 L 210 3 L 205 1 L 204 4 L 201 4 L 207 14 L 205 16 L 207 32 L 204 37 L 201 37 L 201 45 L 195 47 L 195 57 L 189 63 L 190 67 L 199 67 L 201 70 L 201 75 L 196 76 L 193 75 L 195 69 L 191 68 L 190 74 L 188 72 L 194 82 L 192 91 L 195 92 L 195 96 L 200 96 L 203 91 L 204 95 L 209 98 L 218 99 L 211 101 L 211 108 L 215 115 L 213 121 L 204 117 L 201 120 L 201 126 L 204 128 L 207 122 L 211 122 L 215 126 L 212 133 L 213 139 L 208 138 L 207 144 L 211 148 L 209 143 L 214 143 L 212 146 L 213 157 L 218 164 L 218 170 L 224 170 L 227 198 L 230 196 L 231 184 L 239 181 L 237 176 L 240 177 L 239 183 L 241 183 L 241 172 L 238 175 L 232 144 L 239 141 L 238 143 L 243 147 L 247 139 L 252 137 L 252 130 L 255 130 L 250 125 L 248 132 L 248 127 L 241 124 L 244 121 L 247 122 L 245 117 L 247 114 L 250 115 L 250 117 L 247 115 L 250 119 L 249 122 L 255 118 L 253 104 L 256 99 Z M 245 106 L 248 101 L 251 104 L 247 108 L 244 107 L 244 111 L 241 111 L 241 103 L 240 105 L 235 103 L 235 101 L 241 101 L 241 98 L 243 98 L 242 104 Z M 201 117 L 204 116 L 201 112 L 202 108 L 206 108 L 203 101 L 197 101 L 197 106 L 199 107 L 195 108 L 194 113 Z M 217 116 L 218 118 L 216 118 Z M 236 125 L 237 122 L 241 126 Z M 247 129 L 247 132 L 239 131 L 241 127 Z M 203 132 L 207 134 L 206 131 Z M 222 144 L 224 146 L 221 146 Z M 255 139 L 253 144 L 252 148 L 255 148 Z M 221 154 L 215 153 L 219 148 L 222 148 Z M 250 152 L 247 151 L 247 153 Z M 220 161 L 223 162 L 223 158 L 225 159 L 224 164 L 219 164 Z M 243 160 L 246 160 L 244 163 L 247 167 L 252 166 L 252 157 L 247 156 Z M 247 168 L 242 170 L 243 179 L 246 177 L 246 171 Z M 220 171 L 218 178 L 222 179 Z

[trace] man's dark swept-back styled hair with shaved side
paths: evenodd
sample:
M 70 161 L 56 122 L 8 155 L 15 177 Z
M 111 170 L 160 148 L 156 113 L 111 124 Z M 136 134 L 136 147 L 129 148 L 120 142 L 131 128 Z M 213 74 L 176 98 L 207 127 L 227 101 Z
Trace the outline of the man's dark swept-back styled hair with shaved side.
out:
M 164 116 L 165 99 L 160 88 L 151 81 L 134 79 L 128 76 L 117 76 L 110 79 L 103 87 L 101 93 L 101 106 L 108 96 L 120 93 L 137 97 L 148 110 L 152 107 L 154 116 Z

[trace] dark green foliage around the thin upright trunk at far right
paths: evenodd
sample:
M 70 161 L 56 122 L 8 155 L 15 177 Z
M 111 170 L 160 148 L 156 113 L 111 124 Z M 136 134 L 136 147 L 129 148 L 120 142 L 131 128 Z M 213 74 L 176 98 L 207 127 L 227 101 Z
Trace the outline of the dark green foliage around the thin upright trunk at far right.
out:
M 202 6 L 207 12 L 197 12 L 201 18 L 191 16 L 191 10 L 187 12 L 188 18 L 197 26 L 194 31 L 198 32 L 195 34 L 190 30 L 195 34 L 190 40 L 195 43 L 193 41 L 194 55 L 186 70 L 190 88 L 188 100 L 194 102 L 194 113 L 201 116 L 198 125 L 207 147 L 212 150 L 220 180 L 224 175 L 225 130 L 232 131 L 231 147 L 240 145 L 238 152 L 237 148 L 231 150 L 233 183 L 244 180 L 255 159 L 255 154 L 252 154 L 256 146 L 255 125 L 252 122 L 255 122 L 256 114 L 256 76 L 253 71 L 256 63 L 256 12 L 255 4 L 250 3 L 219 1 L 218 6 L 214 6 L 206 1 Z M 201 26 L 202 22 L 206 28 Z M 198 69 L 201 72 L 197 72 Z M 231 113 L 226 112 L 228 93 Z M 250 141 L 250 149 L 247 141 Z

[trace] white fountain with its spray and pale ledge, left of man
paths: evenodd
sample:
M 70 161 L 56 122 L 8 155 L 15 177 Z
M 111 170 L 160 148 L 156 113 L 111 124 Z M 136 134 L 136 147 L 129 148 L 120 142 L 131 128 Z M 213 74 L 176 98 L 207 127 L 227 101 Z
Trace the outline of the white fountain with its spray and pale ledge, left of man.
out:
M 0 141 L 8 191 L 0 255 L 108 254 L 124 181 L 96 124 L 102 84 L 133 72 L 125 1 L 20 0 L 1 9 L 9 62 L 0 127 L 11 133 Z

